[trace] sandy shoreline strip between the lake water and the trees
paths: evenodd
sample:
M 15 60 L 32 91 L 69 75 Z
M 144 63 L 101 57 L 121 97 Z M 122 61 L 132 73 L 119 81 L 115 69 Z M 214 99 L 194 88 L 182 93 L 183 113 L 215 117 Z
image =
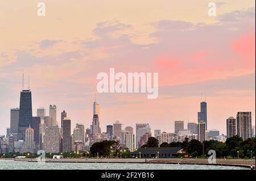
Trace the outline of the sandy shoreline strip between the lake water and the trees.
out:
M 37 159 L 2 159 L 23 162 L 38 162 Z M 1 159 L 0 159 L 1 161 Z M 214 165 L 214 166 L 236 166 L 249 168 L 253 165 L 255 170 L 255 159 L 237 160 L 237 159 L 216 159 L 216 163 L 208 163 L 208 159 L 189 159 L 189 158 L 168 158 L 168 159 L 145 159 L 142 158 L 63 158 L 46 159 L 46 163 L 146 163 L 146 164 L 180 164 L 180 165 Z

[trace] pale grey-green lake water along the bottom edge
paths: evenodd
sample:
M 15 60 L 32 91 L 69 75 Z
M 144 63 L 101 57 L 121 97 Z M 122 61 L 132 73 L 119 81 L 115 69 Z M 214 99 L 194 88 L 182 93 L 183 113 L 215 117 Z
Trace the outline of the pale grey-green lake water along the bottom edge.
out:
M 244 167 L 157 163 L 38 163 L 0 160 L 0 170 L 248 170 Z

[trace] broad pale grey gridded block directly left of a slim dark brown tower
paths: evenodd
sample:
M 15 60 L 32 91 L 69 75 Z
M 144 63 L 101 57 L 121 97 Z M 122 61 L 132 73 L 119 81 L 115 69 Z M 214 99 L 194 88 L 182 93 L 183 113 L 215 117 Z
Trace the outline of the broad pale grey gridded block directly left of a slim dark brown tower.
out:
M 60 129 L 59 127 L 46 127 L 43 148 L 46 153 L 59 153 L 60 151 Z

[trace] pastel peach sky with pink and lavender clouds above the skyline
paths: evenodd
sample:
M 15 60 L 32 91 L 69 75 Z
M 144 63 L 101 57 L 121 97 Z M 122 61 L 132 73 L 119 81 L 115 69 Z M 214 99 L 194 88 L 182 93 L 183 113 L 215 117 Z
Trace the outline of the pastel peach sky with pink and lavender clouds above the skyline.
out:
M 174 132 L 174 121 L 197 120 L 201 94 L 208 103 L 208 129 L 226 134 L 226 119 L 251 111 L 255 125 L 255 1 L 71 1 L 1 2 L 0 134 L 19 107 L 22 72 L 30 75 L 36 108 L 65 110 L 72 126 L 92 123 L 96 76 L 158 72 L 159 96 L 97 94 L 100 126 L 150 123 Z M 208 16 L 215 2 L 217 16 Z M 203 99 L 204 96 L 203 96 Z

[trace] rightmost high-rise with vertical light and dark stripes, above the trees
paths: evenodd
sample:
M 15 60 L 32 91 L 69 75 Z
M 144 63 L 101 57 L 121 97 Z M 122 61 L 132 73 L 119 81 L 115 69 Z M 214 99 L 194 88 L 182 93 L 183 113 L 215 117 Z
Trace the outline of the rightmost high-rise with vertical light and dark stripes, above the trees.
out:
M 237 112 L 237 135 L 243 140 L 251 137 L 251 112 Z

